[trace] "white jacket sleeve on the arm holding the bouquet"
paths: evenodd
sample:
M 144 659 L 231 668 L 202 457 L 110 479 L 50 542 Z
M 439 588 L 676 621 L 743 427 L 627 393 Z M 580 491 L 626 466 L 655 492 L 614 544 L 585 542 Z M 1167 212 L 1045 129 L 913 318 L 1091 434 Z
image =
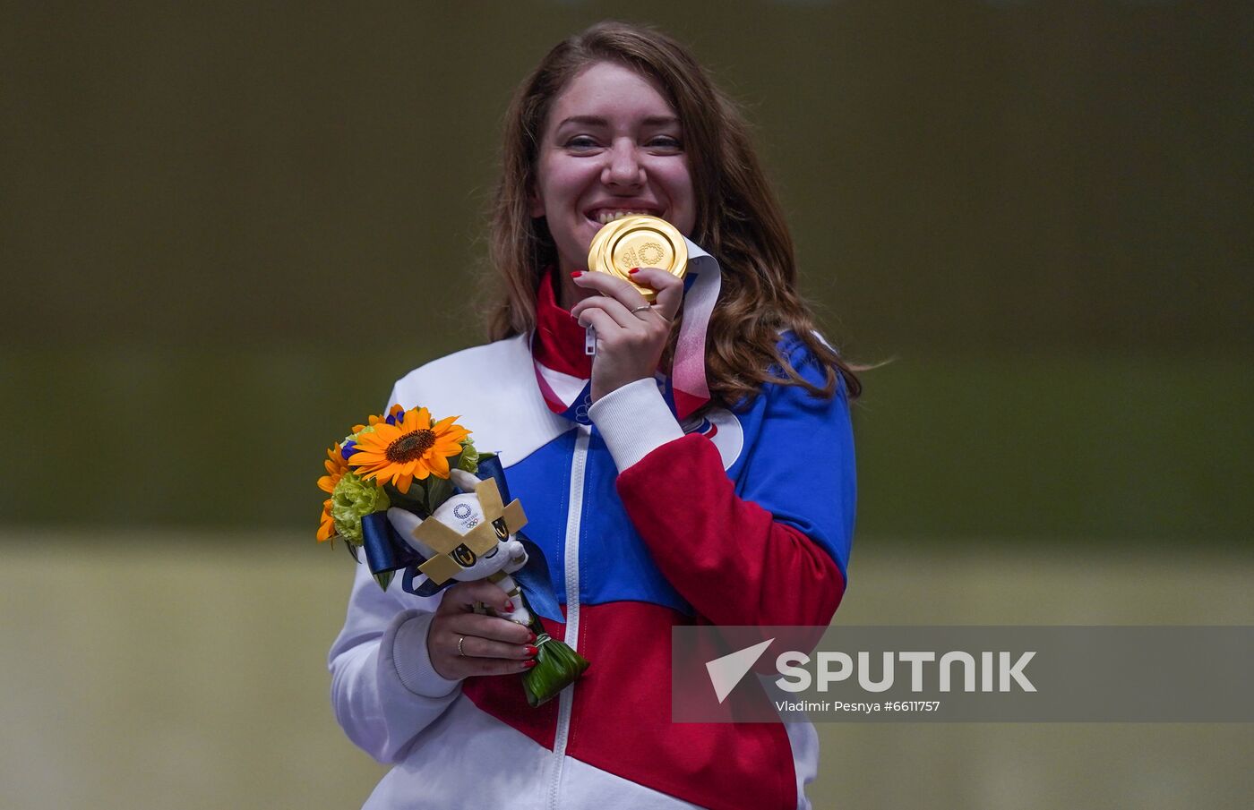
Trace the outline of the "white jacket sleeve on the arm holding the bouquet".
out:
M 460 693 L 431 667 L 426 631 L 443 592 L 405 593 L 398 577 L 384 592 L 356 565 L 349 614 L 331 646 L 331 703 L 345 734 L 380 762 L 396 762 L 423 728 Z

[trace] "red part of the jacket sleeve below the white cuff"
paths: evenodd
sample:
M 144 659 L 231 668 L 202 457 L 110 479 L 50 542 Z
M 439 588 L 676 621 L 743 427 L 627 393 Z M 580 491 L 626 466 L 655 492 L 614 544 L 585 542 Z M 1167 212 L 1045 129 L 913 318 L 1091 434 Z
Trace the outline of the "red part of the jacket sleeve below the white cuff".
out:
M 705 436 L 661 445 L 618 475 L 658 569 L 715 624 L 826 626 L 845 581 L 798 529 L 736 495 Z

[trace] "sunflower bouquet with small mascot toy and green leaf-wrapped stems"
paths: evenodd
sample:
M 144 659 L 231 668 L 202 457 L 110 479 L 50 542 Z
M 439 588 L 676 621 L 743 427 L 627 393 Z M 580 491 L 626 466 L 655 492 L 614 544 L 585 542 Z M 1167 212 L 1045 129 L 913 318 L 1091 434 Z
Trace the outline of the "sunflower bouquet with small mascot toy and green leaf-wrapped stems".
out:
M 522 675 L 527 702 L 539 706 L 573 683 L 588 661 L 545 632 L 539 614 L 562 621 L 544 554 L 520 532 L 527 524 L 509 499 L 504 468 L 480 454 L 456 416 L 436 421 L 425 408 L 393 405 L 384 416 L 327 450 L 317 485 L 319 542 L 340 538 L 386 589 L 396 571 L 403 588 L 433 596 L 453 582 L 488 579 L 513 601 L 499 614 L 535 633 L 535 666 Z M 495 611 L 484 608 L 497 616 Z

